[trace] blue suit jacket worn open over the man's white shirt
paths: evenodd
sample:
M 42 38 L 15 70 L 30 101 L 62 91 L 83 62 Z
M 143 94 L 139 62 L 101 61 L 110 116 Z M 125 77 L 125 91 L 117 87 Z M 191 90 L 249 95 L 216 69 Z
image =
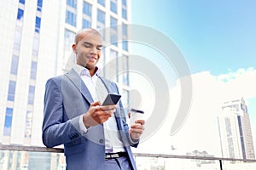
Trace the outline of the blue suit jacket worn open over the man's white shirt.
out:
M 109 93 L 119 93 L 115 83 L 100 79 Z M 79 116 L 88 111 L 92 102 L 88 88 L 73 69 L 62 76 L 50 78 L 46 83 L 43 142 L 47 147 L 64 144 L 67 169 L 103 169 L 105 139 L 102 124 L 90 127 L 85 134 L 79 131 Z M 114 115 L 131 167 L 136 169 L 130 145 L 137 144 L 129 138 L 129 127 L 120 101 Z

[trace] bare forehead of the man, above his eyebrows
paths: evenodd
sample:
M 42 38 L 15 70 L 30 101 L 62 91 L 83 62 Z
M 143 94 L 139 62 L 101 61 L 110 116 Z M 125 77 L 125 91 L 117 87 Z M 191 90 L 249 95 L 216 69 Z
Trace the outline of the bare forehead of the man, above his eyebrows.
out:
M 90 42 L 102 45 L 102 37 L 98 33 L 85 31 L 78 34 L 77 42 Z

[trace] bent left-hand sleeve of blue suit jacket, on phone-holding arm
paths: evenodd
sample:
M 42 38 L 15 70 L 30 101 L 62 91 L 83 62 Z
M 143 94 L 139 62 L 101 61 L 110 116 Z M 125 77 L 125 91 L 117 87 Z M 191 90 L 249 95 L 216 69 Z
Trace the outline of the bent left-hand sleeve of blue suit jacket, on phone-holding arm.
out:
M 58 79 L 49 79 L 46 83 L 44 94 L 44 122 L 43 143 L 47 147 L 65 144 L 78 139 L 81 134 L 79 127 L 79 116 L 73 117 L 65 122 L 65 110 L 61 95 L 61 82 Z

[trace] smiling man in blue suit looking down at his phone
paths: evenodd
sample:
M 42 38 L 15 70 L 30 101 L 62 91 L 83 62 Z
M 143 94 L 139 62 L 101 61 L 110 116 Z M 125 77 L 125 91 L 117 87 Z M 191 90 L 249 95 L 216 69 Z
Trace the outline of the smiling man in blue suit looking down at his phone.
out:
M 129 127 L 121 101 L 101 105 L 108 94 L 119 94 L 114 82 L 98 74 L 102 47 L 98 31 L 79 31 L 72 46 L 76 64 L 46 82 L 43 142 L 64 144 L 70 170 L 135 170 L 131 146 L 137 147 L 144 121 Z

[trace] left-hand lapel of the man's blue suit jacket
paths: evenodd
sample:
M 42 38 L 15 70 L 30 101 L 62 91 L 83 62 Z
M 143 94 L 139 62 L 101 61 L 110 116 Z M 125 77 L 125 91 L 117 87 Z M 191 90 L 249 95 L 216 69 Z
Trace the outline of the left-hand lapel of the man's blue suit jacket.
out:
M 73 82 L 74 86 L 78 88 L 81 94 L 83 94 L 84 99 L 86 99 L 89 103 L 93 103 L 93 99 L 90 95 L 90 91 L 88 88 L 85 86 L 83 80 L 81 77 L 79 77 L 79 74 L 74 71 L 73 69 L 71 71 L 68 71 L 65 76 Z

